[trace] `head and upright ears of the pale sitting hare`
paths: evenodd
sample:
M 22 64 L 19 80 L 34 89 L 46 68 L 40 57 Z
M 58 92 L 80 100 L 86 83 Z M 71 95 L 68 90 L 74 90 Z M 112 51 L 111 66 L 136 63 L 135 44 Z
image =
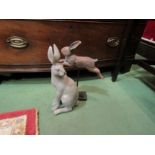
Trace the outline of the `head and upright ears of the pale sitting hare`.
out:
M 58 62 L 60 59 L 60 52 L 55 44 L 53 44 L 53 47 L 49 46 L 47 56 L 49 61 L 52 63 L 52 75 L 57 77 L 63 77 L 66 74 L 66 71 L 63 67 L 63 64 Z

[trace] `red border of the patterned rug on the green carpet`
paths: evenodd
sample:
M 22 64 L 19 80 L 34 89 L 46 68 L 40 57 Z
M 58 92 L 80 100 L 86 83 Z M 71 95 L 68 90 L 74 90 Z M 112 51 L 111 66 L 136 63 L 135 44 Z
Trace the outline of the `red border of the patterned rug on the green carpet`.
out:
M 14 112 L 0 113 L 0 119 L 18 117 L 22 115 L 27 115 L 26 124 L 26 135 L 36 135 L 37 134 L 37 110 L 19 110 Z

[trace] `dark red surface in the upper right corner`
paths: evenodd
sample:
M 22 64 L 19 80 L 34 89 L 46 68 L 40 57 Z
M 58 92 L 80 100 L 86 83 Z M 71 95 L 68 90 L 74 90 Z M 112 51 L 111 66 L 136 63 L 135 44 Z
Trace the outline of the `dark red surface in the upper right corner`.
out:
M 143 37 L 155 41 L 155 20 L 149 20 L 147 22 Z

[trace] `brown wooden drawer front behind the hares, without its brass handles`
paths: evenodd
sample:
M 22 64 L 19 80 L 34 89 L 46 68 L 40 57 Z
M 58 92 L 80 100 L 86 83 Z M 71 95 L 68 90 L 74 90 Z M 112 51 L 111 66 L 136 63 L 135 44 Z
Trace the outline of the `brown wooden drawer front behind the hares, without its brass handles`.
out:
M 98 59 L 116 59 L 120 46 L 107 45 L 109 37 L 120 41 L 126 21 L 46 21 L 46 20 L 0 20 L 0 65 L 49 64 L 47 49 L 52 43 L 62 48 L 75 40 L 83 43 L 73 52 L 77 55 Z M 25 48 L 14 48 L 8 43 L 13 36 L 28 42 Z

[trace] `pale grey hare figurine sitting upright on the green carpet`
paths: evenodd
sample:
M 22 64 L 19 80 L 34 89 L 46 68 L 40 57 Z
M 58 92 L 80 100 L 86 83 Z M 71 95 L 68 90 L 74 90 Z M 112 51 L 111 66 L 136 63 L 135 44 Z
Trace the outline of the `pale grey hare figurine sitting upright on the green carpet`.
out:
M 57 96 L 52 104 L 52 111 L 55 115 L 69 112 L 77 104 L 78 88 L 76 83 L 66 75 L 63 64 L 58 62 L 60 52 L 55 44 L 48 48 L 48 59 L 52 63 L 51 82 L 57 91 Z

